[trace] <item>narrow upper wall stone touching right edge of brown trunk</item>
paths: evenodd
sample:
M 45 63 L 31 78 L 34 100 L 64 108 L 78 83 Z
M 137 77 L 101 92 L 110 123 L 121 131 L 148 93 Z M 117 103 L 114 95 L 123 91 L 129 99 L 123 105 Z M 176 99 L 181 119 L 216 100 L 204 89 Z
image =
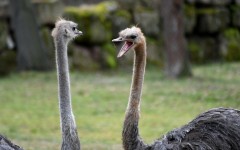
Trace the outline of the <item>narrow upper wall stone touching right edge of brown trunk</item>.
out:
M 184 5 L 184 31 L 191 33 L 196 25 L 196 8 L 192 5 Z

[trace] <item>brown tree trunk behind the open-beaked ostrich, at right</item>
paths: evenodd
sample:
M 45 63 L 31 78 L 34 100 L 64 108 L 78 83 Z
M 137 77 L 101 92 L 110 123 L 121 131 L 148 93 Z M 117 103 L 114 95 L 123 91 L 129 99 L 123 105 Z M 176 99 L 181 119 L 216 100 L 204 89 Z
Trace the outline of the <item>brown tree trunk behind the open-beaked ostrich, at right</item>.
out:
M 165 71 L 170 78 L 191 76 L 185 48 L 183 0 L 162 0 Z

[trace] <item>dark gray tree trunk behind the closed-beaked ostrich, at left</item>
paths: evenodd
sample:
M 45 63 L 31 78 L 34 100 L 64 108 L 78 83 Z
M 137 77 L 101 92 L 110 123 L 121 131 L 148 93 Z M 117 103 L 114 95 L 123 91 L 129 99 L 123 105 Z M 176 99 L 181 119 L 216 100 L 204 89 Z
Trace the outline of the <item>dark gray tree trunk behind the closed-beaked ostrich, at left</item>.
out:
M 29 0 L 10 0 L 11 27 L 17 44 L 19 70 L 47 70 L 49 56 L 40 38 L 38 25 Z

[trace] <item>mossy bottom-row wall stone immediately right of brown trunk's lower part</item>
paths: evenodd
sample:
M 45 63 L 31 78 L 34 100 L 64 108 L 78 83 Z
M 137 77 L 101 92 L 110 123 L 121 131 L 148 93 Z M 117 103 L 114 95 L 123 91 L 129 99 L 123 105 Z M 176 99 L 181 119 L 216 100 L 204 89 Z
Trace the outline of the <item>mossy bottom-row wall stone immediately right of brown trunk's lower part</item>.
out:
M 191 37 L 187 42 L 190 60 L 195 63 L 206 63 L 219 58 L 217 42 L 211 37 Z

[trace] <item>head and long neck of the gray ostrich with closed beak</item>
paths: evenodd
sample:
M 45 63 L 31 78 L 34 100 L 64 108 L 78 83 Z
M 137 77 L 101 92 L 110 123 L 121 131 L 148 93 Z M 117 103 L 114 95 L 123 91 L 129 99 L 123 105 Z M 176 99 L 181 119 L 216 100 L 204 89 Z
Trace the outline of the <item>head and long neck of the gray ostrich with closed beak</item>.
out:
M 76 23 L 63 19 L 56 22 L 52 31 L 56 48 L 62 150 L 80 150 L 80 140 L 71 106 L 67 56 L 68 43 L 80 34 L 82 32 L 77 30 Z

